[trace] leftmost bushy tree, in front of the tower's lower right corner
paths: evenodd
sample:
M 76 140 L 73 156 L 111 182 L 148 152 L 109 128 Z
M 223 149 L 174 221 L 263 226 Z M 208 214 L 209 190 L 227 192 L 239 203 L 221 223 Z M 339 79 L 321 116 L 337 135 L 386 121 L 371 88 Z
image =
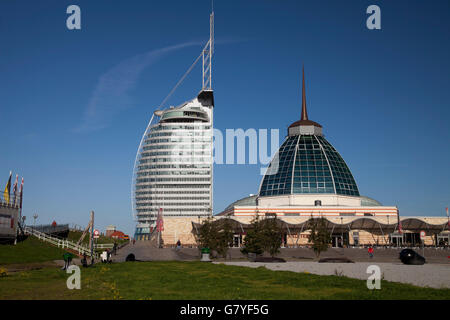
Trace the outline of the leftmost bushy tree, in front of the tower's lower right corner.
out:
M 212 217 L 203 220 L 196 234 L 199 247 L 209 248 L 218 255 L 226 257 L 228 247 L 233 241 L 233 225 L 229 218 L 214 221 Z

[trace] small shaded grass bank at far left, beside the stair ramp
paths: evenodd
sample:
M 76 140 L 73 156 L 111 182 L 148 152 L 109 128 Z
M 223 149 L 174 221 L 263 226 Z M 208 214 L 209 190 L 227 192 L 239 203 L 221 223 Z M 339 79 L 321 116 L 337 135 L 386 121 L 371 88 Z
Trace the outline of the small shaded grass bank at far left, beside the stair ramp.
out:
M 0 245 L 0 265 L 61 260 L 64 252 L 35 237 L 28 237 L 16 245 Z

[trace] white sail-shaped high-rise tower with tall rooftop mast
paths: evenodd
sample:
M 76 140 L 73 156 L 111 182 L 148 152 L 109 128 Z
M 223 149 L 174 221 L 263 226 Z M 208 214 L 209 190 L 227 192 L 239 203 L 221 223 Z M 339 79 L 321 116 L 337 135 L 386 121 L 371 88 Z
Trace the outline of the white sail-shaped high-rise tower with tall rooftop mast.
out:
M 212 215 L 213 109 L 212 56 L 214 12 L 210 37 L 201 55 L 202 89 L 192 100 L 156 110 L 142 137 L 133 171 L 135 238 L 146 240 L 164 217 Z

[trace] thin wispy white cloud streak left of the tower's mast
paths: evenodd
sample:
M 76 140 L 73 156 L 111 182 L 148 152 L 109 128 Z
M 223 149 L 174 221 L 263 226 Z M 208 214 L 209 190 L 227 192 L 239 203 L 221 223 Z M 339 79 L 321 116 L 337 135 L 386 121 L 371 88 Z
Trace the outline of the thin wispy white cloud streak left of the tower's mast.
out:
M 167 53 L 201 44 L 201 42 L 185 42 L 152 50 L 126 59 L 109 69 L 100 76 L 82 122 L 74 131 L 91 132 L 108 127 L 114 116 L 132 106 L 129 91 L 135 87 L 145 68 Z

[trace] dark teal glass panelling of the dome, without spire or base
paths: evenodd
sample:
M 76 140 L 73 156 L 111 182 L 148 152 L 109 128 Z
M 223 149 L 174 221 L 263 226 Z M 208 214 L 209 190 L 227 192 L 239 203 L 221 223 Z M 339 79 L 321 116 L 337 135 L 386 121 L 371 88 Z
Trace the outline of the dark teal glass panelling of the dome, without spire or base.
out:
M 278 162 L 278 170 L 276 164 Z M 342 194 L 359 196 L 358 187 L 336 149 L 320 135 L 286 138 L 262 180 L 260 196 Z

